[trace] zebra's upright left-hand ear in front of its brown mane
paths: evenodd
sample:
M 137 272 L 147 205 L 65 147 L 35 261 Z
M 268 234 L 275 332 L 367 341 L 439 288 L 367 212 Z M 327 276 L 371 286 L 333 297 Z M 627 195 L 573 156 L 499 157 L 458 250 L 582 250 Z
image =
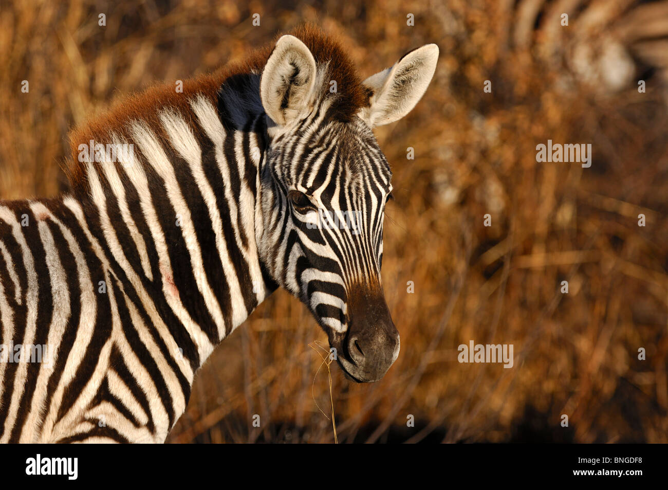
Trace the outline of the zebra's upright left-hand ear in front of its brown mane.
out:
M 297 37 L 284 35 L 272 51 L 260 80 L 260 98 L 267 116 L 284 126 L 311 102 L 315 59 Z

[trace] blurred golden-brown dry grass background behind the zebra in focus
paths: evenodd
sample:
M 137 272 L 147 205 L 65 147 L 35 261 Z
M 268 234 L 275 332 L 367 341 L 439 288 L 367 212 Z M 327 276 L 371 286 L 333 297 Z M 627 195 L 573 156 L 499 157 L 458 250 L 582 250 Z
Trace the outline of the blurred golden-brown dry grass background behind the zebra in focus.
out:
M 277 291 L 198 372 L 168 442 L 327 443 L 332 411 L 339 443 L 668 442 L 666 1 L 1 0 L 0 199 L 67 191 L 67 131 L 116 98 L 303 21 L 362 78 L 440 47 L 426 96 L 375 131 L 401 353 L 375 384 L 333 364 L 330 394 L 325 334 Z M 591 168 L 536 162 L 548 139 L 591 143 Z M 514 367 L 460 364 L 470 340 L 513 344 Z

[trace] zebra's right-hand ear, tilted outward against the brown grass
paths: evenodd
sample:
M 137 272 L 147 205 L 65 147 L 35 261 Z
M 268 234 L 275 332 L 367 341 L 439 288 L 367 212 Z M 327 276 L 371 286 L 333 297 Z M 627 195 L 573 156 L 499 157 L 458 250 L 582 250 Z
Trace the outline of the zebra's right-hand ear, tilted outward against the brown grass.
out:
M 403 118 L 427 90 L 437 61 L 438 46 L 427 44 L 403 55 L 393 67 L 367 78 L 364 85 L 373 95 L 360 117 L 371 128 Z

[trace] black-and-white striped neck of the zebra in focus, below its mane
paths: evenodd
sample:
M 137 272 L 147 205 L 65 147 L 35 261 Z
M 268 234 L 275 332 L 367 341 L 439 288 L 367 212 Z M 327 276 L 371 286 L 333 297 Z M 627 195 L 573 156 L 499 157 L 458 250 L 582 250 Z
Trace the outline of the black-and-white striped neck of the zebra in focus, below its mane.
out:
M 257 249 L 263 121 L 223 124 L 209 100 L 162 126 L 133 122 L 134 161 L 86 164 L 88 193 L 73 206 L 98 244 L 112 293 L 200 366 L 277 285 Z

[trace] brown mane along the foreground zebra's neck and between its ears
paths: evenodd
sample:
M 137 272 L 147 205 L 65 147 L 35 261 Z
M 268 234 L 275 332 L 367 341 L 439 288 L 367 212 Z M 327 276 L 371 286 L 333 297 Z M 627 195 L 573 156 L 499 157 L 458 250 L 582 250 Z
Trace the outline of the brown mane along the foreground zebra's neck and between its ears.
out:
M 365 88 L 361 78 L 357 75 L 353 63 L 345 53 L 339 39 L 327 34 L 316 25 L 305 24 L 296 27 L 289 34 L 301 39 L 313 53 L 318 66 L 327 67 L 328 80 L 337 82 L 337 92 L 327 94 L 332 99 L 329 107 L 329 116 L 335 120 L 349 121 L 360 108 L 369 105 L 371 92 Z M 221 98 L 225 94 L 232 94 L 237 98 L 242 96 L 244 88 L 257 88 L 259 76 L 261 75 L 267 59 L 273 51 L 277 39 L 253 51 L 246 59 L 240 62 L 226 64 L 215 72 L 183 80 L 182 92 L 176 92 L 173 82 L 154 84 L 150 88 L 136 94 L 132 94 L 114 105 L 108 112 L 93 116 L 81 126 L 75 128 L 69 134 L 71 157 L 65 163 L 65 174 L 76 194 L 81 195 L 86 191 L 86 164 L 80 162 L 79 145 L 88 144 L 90 140 L 96 143 L 110 143 L 112 136 L 121 136 L 130 141 L 132 134 L 130 125 L 133 121 L 142 121 L 151 128 L 160 128 L 160 114 L 164 110 L 180 113 L 186 120 L 194 118 L 190 102 L 203 96 L 208 99 L 214 107 L 222 110 L 220 114 L 223 123 L 231 119 L 238 119 L 238 114 L 225 114 Z M 327 85 L 329 88 L 329 85 Z M 259 93 L 253 95 L 253 100 L 246 100 L 246 106 L 250 112 L 255 111 L 257 116 Z M 259 106 L 261 109 L 261 105 Z M 253 114 L 248 114 L 253 116 Z

